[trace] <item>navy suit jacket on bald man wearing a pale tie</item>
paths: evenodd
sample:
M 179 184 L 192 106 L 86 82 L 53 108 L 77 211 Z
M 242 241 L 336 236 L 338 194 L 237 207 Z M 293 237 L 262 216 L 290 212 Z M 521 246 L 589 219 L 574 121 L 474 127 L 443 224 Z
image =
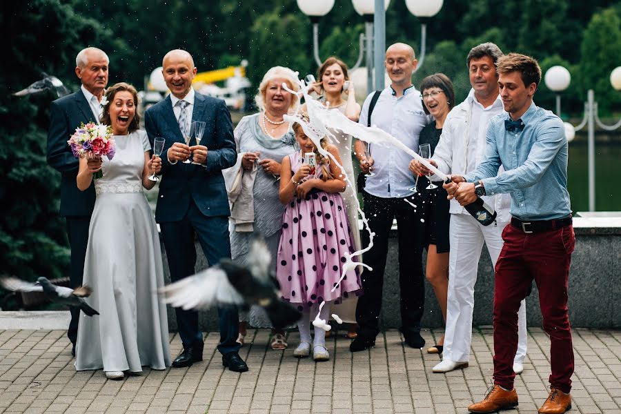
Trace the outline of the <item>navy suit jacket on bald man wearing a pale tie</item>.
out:
M 180 221 L 186 215 L 190 200 L 208 217 L 228 216 L 228 197 L 222 170 L 235 165 L 237 152 L 233 123 L 222 99 L 195 94 L 193 121 L 205 122 L 201 145 L 207 147 L 206 167 L 194 164 L 170 164 L 166 152 L 177 141 L 185 143 L 172 112 L 170 97 L 156 103 L 144 115 L 146 132 L 153 144 L 155 137 L 166 139 L 161 154 L 161 181 L 155 219 L 158 223 Z M 190 145 L 194 145 L 194 139 Z

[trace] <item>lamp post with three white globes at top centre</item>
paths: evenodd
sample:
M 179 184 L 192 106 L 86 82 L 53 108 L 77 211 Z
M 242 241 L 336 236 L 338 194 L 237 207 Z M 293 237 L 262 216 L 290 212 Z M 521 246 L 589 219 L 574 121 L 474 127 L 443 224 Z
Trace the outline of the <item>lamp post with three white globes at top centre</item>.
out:
M 391 0 L 352 0 L 356 12 L 364 17 L 365 33 L 360 34 L 358 59 L 351 70 L 357 69 L 360 66 L 362 55 L 366 50 L 367 92 L 371 92 L 373 89 L 384 88 L 385 12 L 390 2 Z M 384 6 L 383 10 L 382 3 Z M 421 51 L 416 70 L 421 68 L 425 57 L 426 21 L 440 11 L 443 3 L 443 0 L 406 0 L 406 7 L 419 19 L 421 25 Z M 319 57 L 319 19 L 332 10 L 334 0 L 297 0 L 297 6 L 304 14 L 311 18 L 311 23 L 313 24 L 313 57 L 317 66 L 320 66 L 322 60 Z M 379 12 L 375 13 L 375 10 L 379 10 Z M 375 68 L 375 88 L 373 87 L 373 68 Z

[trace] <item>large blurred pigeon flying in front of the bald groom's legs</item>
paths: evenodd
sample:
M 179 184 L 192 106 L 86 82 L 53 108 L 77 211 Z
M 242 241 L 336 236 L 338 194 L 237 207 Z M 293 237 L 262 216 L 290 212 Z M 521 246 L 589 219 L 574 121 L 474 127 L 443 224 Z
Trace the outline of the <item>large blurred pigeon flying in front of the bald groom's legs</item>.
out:
M 278 282 L 270 272 L 271 255 L 258 237 L 250 244 L 246 266 L 230 259 L 160 290 L 164 302 L 175 308 L 207 309 L 214 306 L 251 305 L 264 308 L 274 328 L 297 322 L 302 314 L 281 299 Z

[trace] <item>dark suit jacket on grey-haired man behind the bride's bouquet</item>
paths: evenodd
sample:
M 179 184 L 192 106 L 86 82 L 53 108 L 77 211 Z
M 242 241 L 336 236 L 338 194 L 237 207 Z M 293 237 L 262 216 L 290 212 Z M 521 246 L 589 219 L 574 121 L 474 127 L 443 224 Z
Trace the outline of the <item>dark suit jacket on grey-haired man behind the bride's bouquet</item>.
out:
M 63 217 L 90 217 L 95 206 L 95 186 L 86 191 L 77 188 L 79 160 L 67 144 L 69 137 L 83 122 L 97 121 L 81 90 L 52 102 L 48 129 L 48 164 L 61 172 L 61 207 Z

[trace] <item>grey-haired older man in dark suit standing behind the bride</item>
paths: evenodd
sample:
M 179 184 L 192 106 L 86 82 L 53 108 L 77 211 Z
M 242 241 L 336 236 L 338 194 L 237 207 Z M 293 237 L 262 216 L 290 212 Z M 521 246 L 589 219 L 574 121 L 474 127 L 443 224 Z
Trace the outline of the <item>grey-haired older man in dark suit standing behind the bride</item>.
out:
M 83 122 L 99 123 L 101 98 L 108 84 L 108 55 L 97 48 L 86 48 L 75 59 L 75 74 L 80 79 L 80 90 L 52 102 L 50 108 L 50 128 L 48 129 L 48 164 L 61 172 L 60 215 L 67 221 L 67 236 L 71 248 L 70 285 L 75 288 L 82 284 L 84 257 L 88 243 L 90 215 L 95 205 L 95 186 L 86 191 L 77 188 L 76 176 L 79 161 L 67 145 L 70 135 Z M 75 342 L 80 311 L 71 308 L 71 322 L 67 336 L 73 344 L 71 351 L 75 356 Z

